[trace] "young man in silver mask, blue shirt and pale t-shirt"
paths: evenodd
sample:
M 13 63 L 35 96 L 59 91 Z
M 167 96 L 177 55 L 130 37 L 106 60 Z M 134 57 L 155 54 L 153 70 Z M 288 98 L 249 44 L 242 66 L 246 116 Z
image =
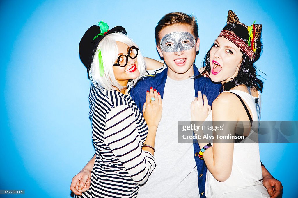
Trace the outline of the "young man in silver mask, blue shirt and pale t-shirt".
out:
M 199 50 L 198 24 L 194 16 L 172 12 L 159 20 L 155 28 L 156 47 L 167 66 L 161 73 L 141 79 L 131 90 L 140 110 L 142 97 L 150 87 L 156 88 L 163 100 L 162 119 L 156 132 L 154 157 L 157 166 L 138 197 L 205 197 L 206 164 L 200 160 L 198 143 L 178 143 L 178 121 L 190 120 L 190 104 L 198 91 L 205 94 L 209 105 L 220 93 L 214 84 L 199 75 L 194 65 Z M 268 193 L 277 197 L 281 183 L 262 166 L 263 183 Z M 271 187 L 272 186 L 272 187 Z

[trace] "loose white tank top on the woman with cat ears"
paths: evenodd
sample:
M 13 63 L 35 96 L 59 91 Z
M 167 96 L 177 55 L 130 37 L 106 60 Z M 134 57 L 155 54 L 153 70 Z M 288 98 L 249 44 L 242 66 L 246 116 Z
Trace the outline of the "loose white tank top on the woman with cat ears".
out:
M 257 98 L 244 91 L 230 90 L 228 92 L 238 94 L 243 99 L 251 110 L 253 121 L 260 120 L 261 94 L 259 91 Z M 206 120 L 212 120 L 212 111 Z M 257 122 L 254 122 L 254 124 L 257 124 Z M 248 137 L 252 133 L 251 131 Z M 249 138 L 246 138 L 246 140 L 249 140 Z M 262 178 L 259 144 L 234 144 L 231 176 L 226 181 L 219 182 L 207 170 L 206 197 L 270 197 L 267 189 L 263 186 Z

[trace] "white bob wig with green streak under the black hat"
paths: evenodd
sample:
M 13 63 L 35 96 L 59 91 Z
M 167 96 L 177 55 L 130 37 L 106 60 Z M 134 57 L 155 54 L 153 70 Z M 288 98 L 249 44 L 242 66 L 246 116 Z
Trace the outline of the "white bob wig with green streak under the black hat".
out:
M 118 58 L 118 47 L 116 41 L 122 42 L 129 47 L 136 46 L 136 43 L 130 39 L 128 36 L 122 33 L 112 33 L 108 34 L 103 38 L 97 46 L 96 52 L 93 55 L 92 64 L 89 71 L 90 80 L 93 85 L 99 89 L 105 88 L 108 91 L 122 90 L 124 87 L 120 85 L 114 75 L 113 65 Z M 101 56 L 103 58 L 103 69 L 104 75 L 100 76 L 98 53 L 101 51 Z M 140 72 L 139 77 L 132 80 L 132 85 L 146 74 L 146 65 L 144 57 L 142 56 L 140 50 L 138 51 L 138 56 L 136 57 L 138 61 L 138 70 Z M 117 66 L 118 67 L 118 66 Z

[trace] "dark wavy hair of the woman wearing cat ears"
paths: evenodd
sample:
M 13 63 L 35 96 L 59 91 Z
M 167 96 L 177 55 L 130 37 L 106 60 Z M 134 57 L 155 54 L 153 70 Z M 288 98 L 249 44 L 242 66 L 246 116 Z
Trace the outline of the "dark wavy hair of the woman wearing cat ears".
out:
M 240 37 L 244 42 L 247 43 L 249 39 L 247 28 L 245 28 L 243 25 L 240 24 L 227 24 L 223 30 L 232 31 L 234 34 L 236 34 L 238 37 Z M 204 58 L 204 66 L 206 67 L 204 72 L 207 71 L 210 74 L 210 50 L 213 47 L 213 45 L 210 47 L 209 51 L 207 52 L 205 58 Z M 263 91 L 263 81 L 258 79 L 256 69 L 254 67 L 254 62 L 257 61 L 260 58 L 260 53 L 263 49 L 262 39 L 257 40 L 257 48 L 255 52 L 255 58 L 254 60 L 251 60 L 249 56 L 243 53 L 243 60 L 240 65 L 238 75 L 233 78 L 233 80 L 226 82 L 223 84 L 222 90 L 229 91 L 230 89 L 234 88 L 238 85 L 246 85 L 249 88 L 260 90 L 260 92 Z M 241 50 L 241 49 L 240 49 Z

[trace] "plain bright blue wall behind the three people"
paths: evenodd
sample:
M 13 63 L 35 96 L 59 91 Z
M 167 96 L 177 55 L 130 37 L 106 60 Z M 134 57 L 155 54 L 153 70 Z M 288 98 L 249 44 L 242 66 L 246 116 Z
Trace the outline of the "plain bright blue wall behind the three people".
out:
M 296 1 L 1 1 L 0 189 L 70 197 L 70 182 L 92 157 L 90 82 L 78 44 L 100 20 L 124 26 L 143 55 L 159 59 L 154 28 L 168 12 L 194 13 L 201 39 L 196 65 L 232 9 L 245 24 L 263 24 L 257 67 L 265 82 L 262 120 L 297 120 Z M 262 144 L 260 155 L 297 197 L 297 144 Z M 158 189 L 157 189 L 158 190 Z

